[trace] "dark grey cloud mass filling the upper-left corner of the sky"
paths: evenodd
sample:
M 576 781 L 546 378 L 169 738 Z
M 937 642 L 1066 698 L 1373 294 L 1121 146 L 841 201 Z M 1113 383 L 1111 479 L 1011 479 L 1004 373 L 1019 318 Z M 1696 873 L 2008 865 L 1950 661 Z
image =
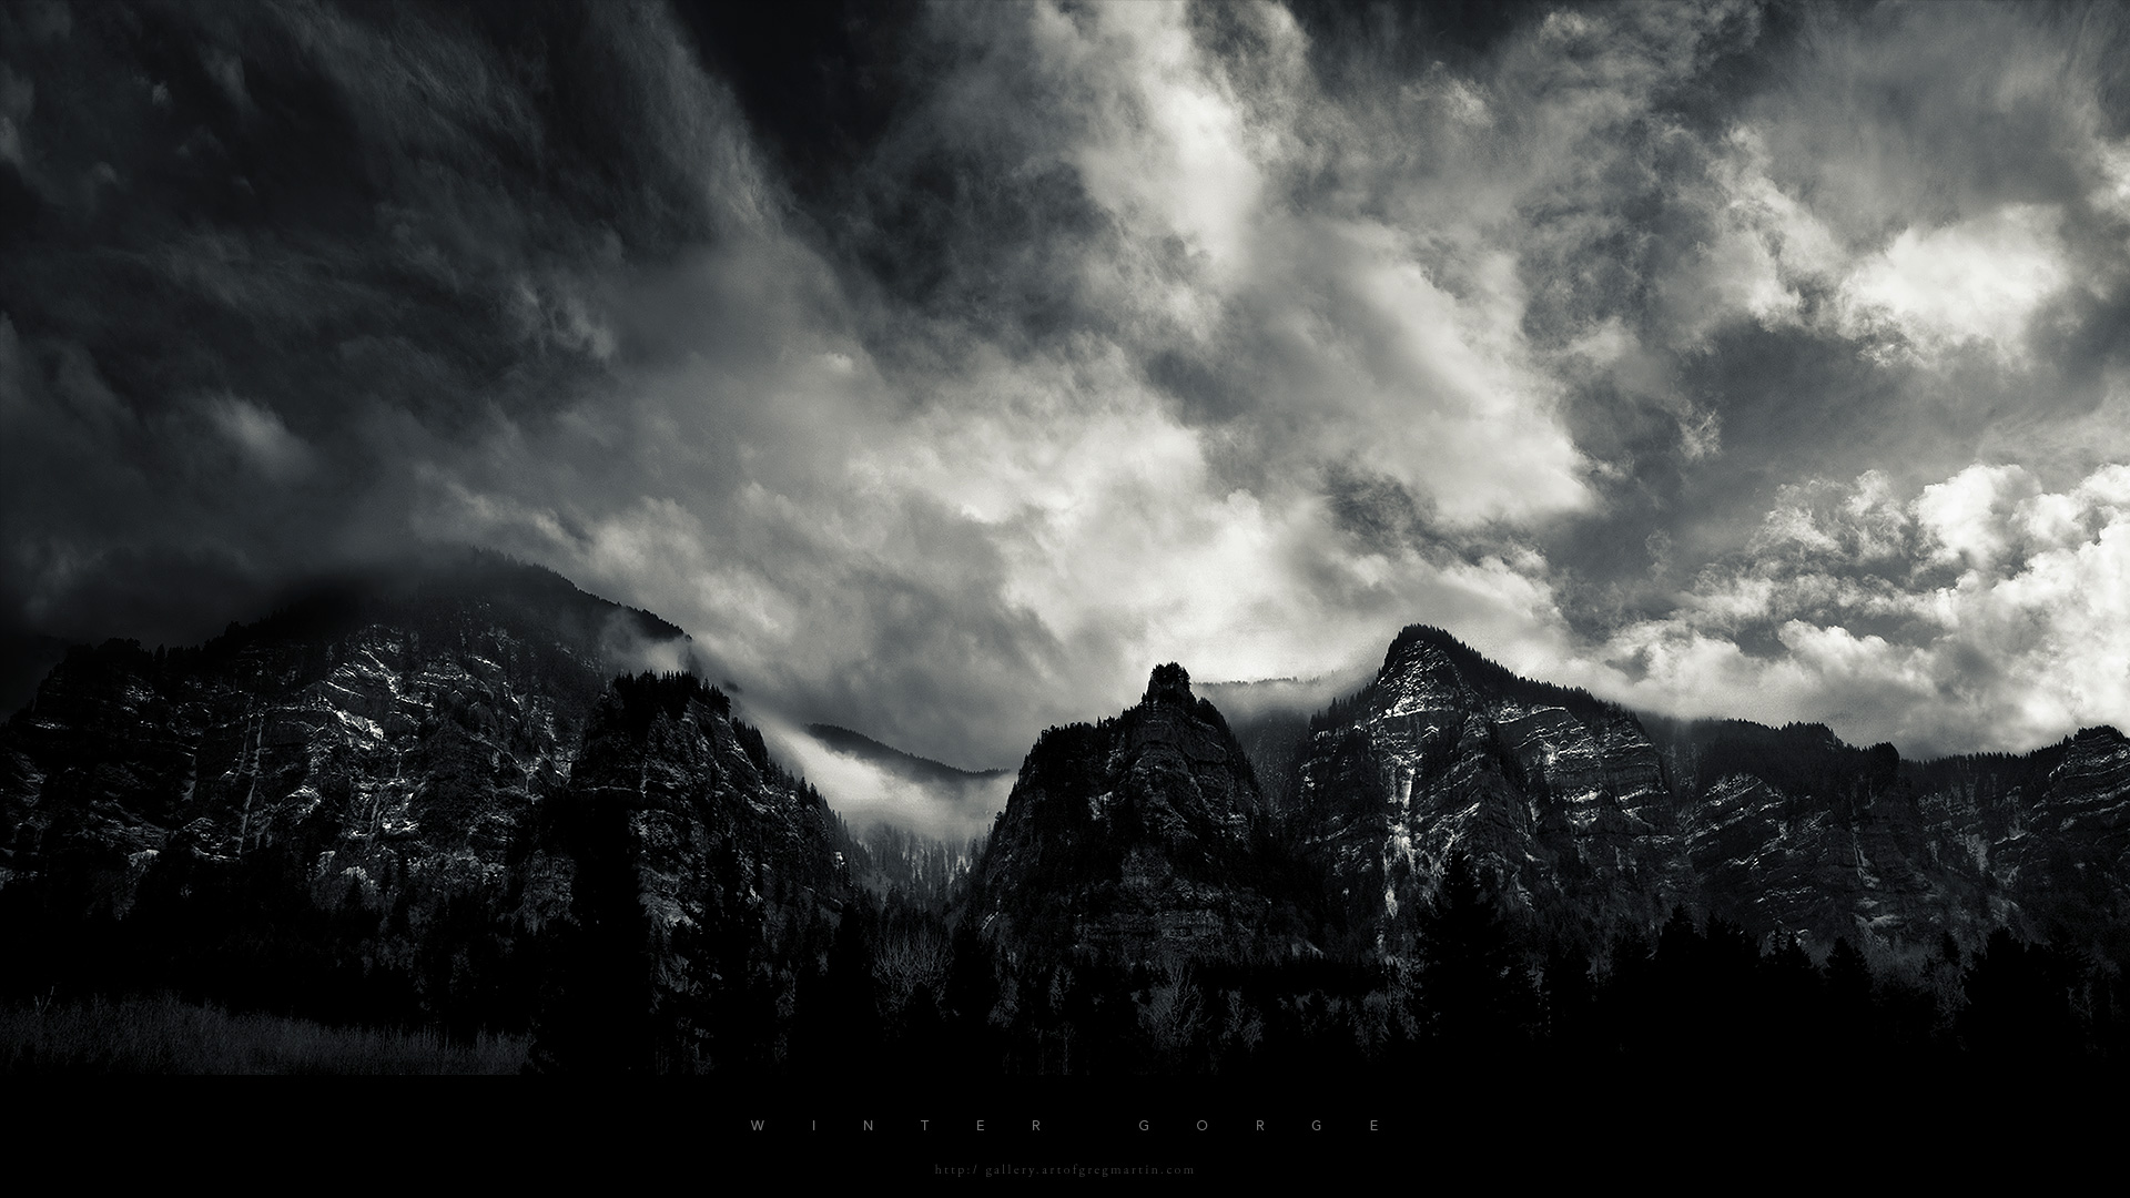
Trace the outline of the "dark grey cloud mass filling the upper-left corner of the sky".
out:
M 411 458 L 596 386 L 599 277 L 724 220 L 613 136 L 671 113 L 592 13 L 53 11 L 6 43 L 9 627 L 196 640 L 403 539 Z

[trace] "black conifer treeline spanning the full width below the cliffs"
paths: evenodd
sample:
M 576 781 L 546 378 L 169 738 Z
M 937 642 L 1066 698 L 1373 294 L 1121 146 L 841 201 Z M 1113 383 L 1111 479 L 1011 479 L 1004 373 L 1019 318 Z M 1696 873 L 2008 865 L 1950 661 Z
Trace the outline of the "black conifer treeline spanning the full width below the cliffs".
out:
M 375 927 L 354 910 L 302 902 L 300 861 L 281 853 L 151 876 L 128 919 L 53 919 L 11 887 L 6 998 L 179 993 L 458 1042 L 520 1034 L 537 1070 L 792 1081 L 2130 1059 L 2121 970 L 2066 944 L 2000 929 L 1970 951 L 1838 940 L 1815 959 L 1685 910 L 1646 932 L 1542 944 L 1463 857 L 1402 959 L 1103 961 L 997 944 L 929 895 L 861 891 L 841 910 L 703 927 L 686 949 L 718 961 L 720 983 L 658 1010 L 645 1006 L 656 961 L 633 891 L 584 880 L 594 906 L 613 889 L 611 919 L 588 908 L 562 942 L 511 944 L 492 936 L 492 912 L 445 904 L 439 917 L 462 927 L 413 938 L 396 961 L 375 955 Z

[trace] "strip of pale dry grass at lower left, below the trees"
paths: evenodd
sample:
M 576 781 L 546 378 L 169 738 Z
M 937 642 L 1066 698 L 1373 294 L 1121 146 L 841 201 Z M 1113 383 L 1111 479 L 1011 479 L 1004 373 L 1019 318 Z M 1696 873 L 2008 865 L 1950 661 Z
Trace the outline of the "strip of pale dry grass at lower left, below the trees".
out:
M 513 1074 L 526 1040 L 328 1027 L 177 998 L 0 1006 L 0 1072 L 64 1074 Z

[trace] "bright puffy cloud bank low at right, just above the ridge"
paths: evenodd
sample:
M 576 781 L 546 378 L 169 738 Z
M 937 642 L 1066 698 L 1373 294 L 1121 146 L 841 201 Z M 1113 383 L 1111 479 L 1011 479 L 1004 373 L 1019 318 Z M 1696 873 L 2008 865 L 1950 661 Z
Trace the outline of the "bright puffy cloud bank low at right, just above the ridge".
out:
M 1825 512 L 1770 518 L 1770 544 L 1791 556 L 1704 573 L 1674 614 L 1615 633 L 1580 678 L 1653 710 L 1825 721 L 1904 752 L 2028 750 L 2085 725 L 2130 727 L 2126 499 L 2119 465 L 2062 492 L 2019 467 L 1975 465 L 1889 514 L 1883 475 L 1868 475 Z M 1881 539 L 1853 531 L 1857 518 L 1885 531 L 1889 516 Z M 1885 567 L 1889 544 L 1906 546 L 1891 571 L 1855 573 Z M 1744 652 L 1749 627 L 1781 652 Z

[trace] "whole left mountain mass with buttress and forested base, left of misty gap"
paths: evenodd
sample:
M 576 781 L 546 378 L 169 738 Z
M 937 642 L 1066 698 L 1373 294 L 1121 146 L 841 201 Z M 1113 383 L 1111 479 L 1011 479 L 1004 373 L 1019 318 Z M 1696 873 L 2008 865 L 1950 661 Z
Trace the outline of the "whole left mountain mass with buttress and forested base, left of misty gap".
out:
M 771 938 L 848 893 L 848 833 L 720 691 L 633 674 L 645 650 L 686 637 L 490 554 L 200 648 L 75 648 L 0 729 L 4 953 L 17 978 L 705 1059 L 699 1008 L 775 987 Z M 584 1034 L 601 1002 L 635 1021 Z

